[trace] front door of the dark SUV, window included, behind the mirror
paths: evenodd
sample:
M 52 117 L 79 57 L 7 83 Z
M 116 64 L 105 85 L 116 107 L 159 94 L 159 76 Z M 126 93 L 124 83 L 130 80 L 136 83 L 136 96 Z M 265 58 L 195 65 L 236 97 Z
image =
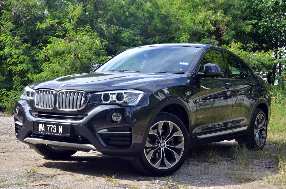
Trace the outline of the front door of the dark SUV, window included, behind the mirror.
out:
M 200 61 L 199 72 L 203 72 L 203 67 L 207 63 L 219 65 L 223 75 L 201 78 L 196 76 L 195 132 L 198 138 L 208 137 L 209 135 L 204 136 L 206 133 L 225 130 L 231 123 L 232 86 L 225 76 L 221 51 L 207 51 Z

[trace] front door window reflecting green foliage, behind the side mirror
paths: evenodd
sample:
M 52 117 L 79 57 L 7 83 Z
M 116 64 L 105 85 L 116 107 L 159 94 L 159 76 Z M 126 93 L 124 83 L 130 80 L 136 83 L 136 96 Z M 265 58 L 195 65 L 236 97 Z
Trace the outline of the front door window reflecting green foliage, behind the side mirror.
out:
M 203 77 L 203 78 L 207 78 L 207 79 L 211 79 L 211 78 L 225 78 L 225 74 L 224 74 L 224 67 L 223 67 L 223 59 L 221 58 L 221 54 L 220 51 L 216 51 L 216 50 L 210 50 L 207 51 L 205 53 L 205 55 L 203 55 L 203 58 L 200 62 L 200 70 L 199 72 L 203 73 L 203 67 L 208 64 L 216 64 L 220 67 L 220 70 L 222 71 L 223 75 L 218 76 L 218 77 Z

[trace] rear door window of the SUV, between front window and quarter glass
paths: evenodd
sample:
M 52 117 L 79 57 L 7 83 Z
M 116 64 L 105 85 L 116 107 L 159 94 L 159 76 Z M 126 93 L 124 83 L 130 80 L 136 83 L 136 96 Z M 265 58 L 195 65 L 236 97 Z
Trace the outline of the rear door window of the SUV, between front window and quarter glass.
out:
M 240 67 L 239 60 L 230 55 L 229 53 L 223 52 L 223 62 L 226 67 L 227 78 L 242 78 L 242 70 Z

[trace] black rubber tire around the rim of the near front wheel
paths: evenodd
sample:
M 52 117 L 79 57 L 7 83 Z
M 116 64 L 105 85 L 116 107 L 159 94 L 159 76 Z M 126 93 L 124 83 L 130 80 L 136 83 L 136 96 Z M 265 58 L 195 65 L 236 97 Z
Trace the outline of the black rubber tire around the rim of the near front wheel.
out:
M 158 175 L 158 176 L 163 176 L 163 175 L 171 174 L 171 173 L 177 171 L 183 165 L 183 163 L 185 162 L 186 157 L 188 155 L 188 151 L 189 151 L 189 135 L 188 135 L 188 131 L 186 130 L 186 127 L 185 127 L 184 123 L 178 117 L 176 117 L 175 115 L 172 115 L 172 114 L 169 114 L 169 113 L 159 114 L 154 119 L 154 122 L 152 123 L 152 126 L 155 123 L 160 122 L 160 121 L 171 121 L 171 122 L 175 123 L 180 128 L 180 130 L 182 131 L 183 137 L 184 137 L 184 151 L 183 151 L 183 154 L 182 154 L 179 162 L 176 163 L 171 168 L 168 168 L 168 169 L 157 169 L 157 168 L 153 167 L 152 165 L 150 165 L 150 163 L 148 162 L 148 160 L 145 157 L 145 153 L 144 152 L 141 155 L 140 159 L 143 161 L 143 163 L 146 166 L 146 168 L 148 169 L 148 171 L 150 171 L 152 174 L 155 174 L 155 175 Z M 145 148 L 144 148 L 144 150 L 145 150 Z

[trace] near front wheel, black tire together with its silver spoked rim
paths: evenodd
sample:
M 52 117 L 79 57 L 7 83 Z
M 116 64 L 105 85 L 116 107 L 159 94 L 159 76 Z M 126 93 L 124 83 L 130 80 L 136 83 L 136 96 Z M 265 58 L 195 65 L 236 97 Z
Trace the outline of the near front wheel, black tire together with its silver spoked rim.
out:
M 143 154 L 132 163 L 147 175 L 169 175 L 183 165 L 188 151 L 189 135 L 184 123 L 173 114 L 159 112 L 149 130 Z

